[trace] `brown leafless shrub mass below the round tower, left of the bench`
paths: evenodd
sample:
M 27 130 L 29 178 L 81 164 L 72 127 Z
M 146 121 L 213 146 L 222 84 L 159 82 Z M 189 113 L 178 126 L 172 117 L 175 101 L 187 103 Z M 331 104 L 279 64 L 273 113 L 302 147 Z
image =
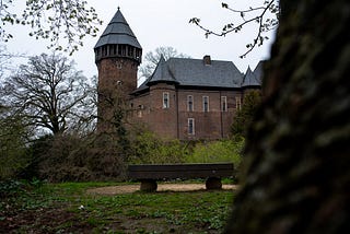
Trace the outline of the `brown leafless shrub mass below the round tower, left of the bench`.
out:
M 55 136 L 37 152 L 39 178 L 49 182 L 118 180 L 125 177 L 120 150 L 106 136 Z

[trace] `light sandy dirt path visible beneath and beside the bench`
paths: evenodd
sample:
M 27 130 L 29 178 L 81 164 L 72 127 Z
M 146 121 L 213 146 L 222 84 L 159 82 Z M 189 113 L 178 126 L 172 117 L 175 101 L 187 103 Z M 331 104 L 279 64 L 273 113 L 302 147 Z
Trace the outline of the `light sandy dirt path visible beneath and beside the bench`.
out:
M 223 189 L 235 190 L 237 185 L 222 185 Z M 86 192 L 91 195 L 121 195 L 138 191 L 140 185 L 120 185 L 89 189 Z M 206 189 L 203 184 L 159 184 L 158 191 L 196 191 Z

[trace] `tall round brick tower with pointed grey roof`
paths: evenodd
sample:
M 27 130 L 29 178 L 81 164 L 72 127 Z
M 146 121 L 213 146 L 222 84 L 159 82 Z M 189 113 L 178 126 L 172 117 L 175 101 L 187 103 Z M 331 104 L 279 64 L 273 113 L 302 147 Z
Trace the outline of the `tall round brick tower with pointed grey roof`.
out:
M 97 130 L 109 131 L 116 112 L 126 107 L 129 94 L 137 89 L 142 47 L 118 11 L 94 47 L 98 69 Z

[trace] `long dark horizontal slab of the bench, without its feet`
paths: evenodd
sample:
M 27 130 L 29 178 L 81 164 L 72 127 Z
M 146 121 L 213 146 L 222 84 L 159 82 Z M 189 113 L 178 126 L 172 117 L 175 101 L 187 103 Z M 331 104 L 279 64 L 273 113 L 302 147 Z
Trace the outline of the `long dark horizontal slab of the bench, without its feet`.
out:
M 233 163 L 129 165 L 130 179 L 208 178 L 233 175 Z

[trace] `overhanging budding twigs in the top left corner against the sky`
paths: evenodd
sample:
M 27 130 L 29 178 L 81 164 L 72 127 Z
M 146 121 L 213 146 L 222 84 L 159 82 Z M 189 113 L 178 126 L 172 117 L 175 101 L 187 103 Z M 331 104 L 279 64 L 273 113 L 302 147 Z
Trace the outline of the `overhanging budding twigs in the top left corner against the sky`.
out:
M 30 36 L 36 39 L 49 39 L 48 48 L 56 48 L 72 54 L 83 45 L 86 35 L 96 36 L 97 25 L 102 24 L 94 8 L 89 8 L 84 0 L 27 0 L 22 14 L 16 14 L 19 2 L 0 1 L 0 37 L 7 42 L 13 37 L 5 31 L 5 25 L 18 24 L 32 28 Z M 60 39 L 65 39 L 62 47 Z

